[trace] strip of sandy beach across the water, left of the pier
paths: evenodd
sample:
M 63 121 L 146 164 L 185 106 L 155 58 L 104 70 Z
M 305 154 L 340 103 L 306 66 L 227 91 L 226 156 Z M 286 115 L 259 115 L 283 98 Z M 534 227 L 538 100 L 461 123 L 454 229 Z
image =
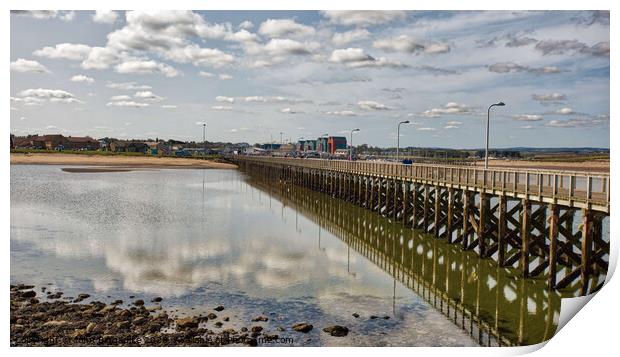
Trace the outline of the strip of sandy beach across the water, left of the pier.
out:
M 74 155 L 74 154 L 16 154 L 11 153 L 11 165 L 84 165 L 129 168 L 201 168 L 234 169 L 233 164 L 215 160 L 196 160 L 176 157 Z

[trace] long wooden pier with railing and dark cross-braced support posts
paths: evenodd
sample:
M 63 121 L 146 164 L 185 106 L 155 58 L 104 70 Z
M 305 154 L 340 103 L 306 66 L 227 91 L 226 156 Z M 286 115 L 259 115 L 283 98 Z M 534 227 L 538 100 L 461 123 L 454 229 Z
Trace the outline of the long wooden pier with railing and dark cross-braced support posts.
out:
M 229 156 L 242 170 L 340 198 L 550 287 L 600 289 L 609 264 L 609 175 Z

